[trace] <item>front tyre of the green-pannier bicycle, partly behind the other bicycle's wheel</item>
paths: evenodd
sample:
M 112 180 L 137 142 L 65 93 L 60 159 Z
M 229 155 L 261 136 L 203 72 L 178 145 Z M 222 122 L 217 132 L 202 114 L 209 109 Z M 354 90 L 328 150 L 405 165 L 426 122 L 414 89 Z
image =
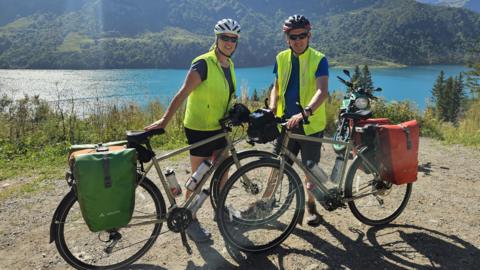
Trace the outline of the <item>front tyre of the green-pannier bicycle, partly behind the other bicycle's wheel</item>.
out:
M 262 151 L 262 150 L 247 150 L 247 151 L 242 151 L 237 153 L 238 161 L 240 164 L 245 164 L 245 159 L 248 158 L 262 158 L 262 157 L 271 157 L 274 158 L 277 155 L 272 153 L 272 152 L 267 152 L 267 151 Z M 243 162 L 242 162 L 243 160 Z M 222 176 L 230 171 L 232 166 L 235 166 L 235 161 L 233 160 L 232 156 L 229 156 L 225 160 L 220 163 L 218 168 L 215 170 L 212 176 L 212 180 L 210 181 L 210 203 L 212 204 L 212 208 L 215 211 L 217 208 L 217 202 L 218 198 L 220 197 L 220 180 L 222 179 Z M 238 170 L 238 168 L 237 168 Z M 232 173 L 233 175 L 233 173 Z

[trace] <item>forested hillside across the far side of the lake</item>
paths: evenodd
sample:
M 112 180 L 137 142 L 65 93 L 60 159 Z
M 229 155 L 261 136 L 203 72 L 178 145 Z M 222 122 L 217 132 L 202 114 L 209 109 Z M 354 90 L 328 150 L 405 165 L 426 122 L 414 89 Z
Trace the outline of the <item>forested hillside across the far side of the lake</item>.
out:
M 332 63 L 458 64 L 478 58 L 480 14 L 414 0 L 0 0 L 0 68 L 184 68 L 237 19 L 238 66 L 285 48 L 282 21 L 305 14 Z

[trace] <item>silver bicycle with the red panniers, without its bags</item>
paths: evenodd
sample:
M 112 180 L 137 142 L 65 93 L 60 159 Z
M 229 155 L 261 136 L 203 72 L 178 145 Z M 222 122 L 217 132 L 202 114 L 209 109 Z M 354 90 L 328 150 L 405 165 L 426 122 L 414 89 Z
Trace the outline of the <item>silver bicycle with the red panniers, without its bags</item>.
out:
M 216 215 L 225 241 L 242 251 L 266 251 L 281 244 L 303 220 L 304 185 L 293 165 L 287 162 L 289 159 L 313 182 L 311 191 L 326 210 L 348 205 L 358 220 L 371 226 L 384 225 L 397 218 L 407 205 L 412 183 L 394 185 L 380 178 L 374 157 L 375 126 L 356 126 L 356 122 L 370 116 L 369 111 L 343 114 L 353 127 L 346 141 L 294 134 L 283 123 L 284 139 L 278 157 L 261 158 L 242 166 L 222 189 Z M 361 135 L 359 145 L 352 139 L 355 134 Z M 324 179 L 325 176 L 314 173 L 316 169 L 307 168 L 286 148 L 290 140 L 344 145 L 344 162 L 336 164 L 335 180 Z M 355 158 L 348 165 L 352 150 Z M 259 189 L 252 192 L 241 188 L 244 179 Z

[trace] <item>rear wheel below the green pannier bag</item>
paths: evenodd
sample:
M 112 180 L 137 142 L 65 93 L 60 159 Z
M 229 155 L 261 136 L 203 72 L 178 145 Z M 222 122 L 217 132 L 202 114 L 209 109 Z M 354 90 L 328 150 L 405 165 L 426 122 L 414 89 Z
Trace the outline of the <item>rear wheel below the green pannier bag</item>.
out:
M 55 212 L 51 235 L 60 255 L 76 269 L 117 269 L 145 254 L 162 227 L 158 222 L 132 225 L 154 221 L 164 215 L 165 202 L 160 191 L 145 178 L 136 188 L 135 208 L 128 226 L 93 233 L 85 224 L 75 193 L 71 191 Z M 112 239 L 118 239 L 115 245 Z

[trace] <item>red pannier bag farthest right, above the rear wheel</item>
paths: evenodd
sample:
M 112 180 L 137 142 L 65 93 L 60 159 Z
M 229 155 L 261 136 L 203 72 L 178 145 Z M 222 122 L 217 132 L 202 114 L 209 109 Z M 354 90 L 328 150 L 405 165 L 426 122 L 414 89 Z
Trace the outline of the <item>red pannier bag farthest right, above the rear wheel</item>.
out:
M 375 155 L 382 180 L 396 185 L 417 180 L 419 137 L 416 120 L 379 126 Z

